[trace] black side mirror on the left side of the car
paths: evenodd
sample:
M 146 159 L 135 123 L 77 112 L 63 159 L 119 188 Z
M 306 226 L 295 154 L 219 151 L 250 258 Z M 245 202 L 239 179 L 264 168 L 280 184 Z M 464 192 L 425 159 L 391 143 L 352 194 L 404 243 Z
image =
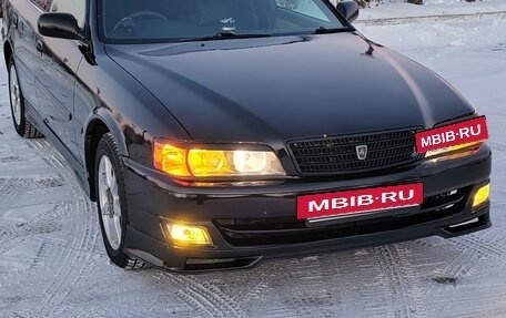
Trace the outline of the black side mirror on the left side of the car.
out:
M 38 22 L 39 33 L 44 37 L 79 40 L 78 21 L 69 13 L 42 13 Z

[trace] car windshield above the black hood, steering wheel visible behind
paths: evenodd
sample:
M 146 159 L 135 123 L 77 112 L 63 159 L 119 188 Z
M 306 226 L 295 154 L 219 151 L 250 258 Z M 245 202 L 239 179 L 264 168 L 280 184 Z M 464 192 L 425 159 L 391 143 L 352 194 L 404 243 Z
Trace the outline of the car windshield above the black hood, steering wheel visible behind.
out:
M 191 41 L 341 30 L 324 0 L 102 0 L 107 39 Z

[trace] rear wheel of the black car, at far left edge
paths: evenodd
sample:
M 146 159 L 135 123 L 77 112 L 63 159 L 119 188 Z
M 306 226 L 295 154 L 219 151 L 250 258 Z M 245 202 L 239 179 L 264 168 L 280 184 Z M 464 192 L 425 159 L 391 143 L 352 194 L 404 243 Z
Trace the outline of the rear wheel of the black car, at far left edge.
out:
M 9 59 L 9 98 L 11 105 L 12 123 L 16 132 L 24 139 L 40 139 L 43 135 L 24 116 L 24 96 L 19 85 L 18 70 L 14 57 Z

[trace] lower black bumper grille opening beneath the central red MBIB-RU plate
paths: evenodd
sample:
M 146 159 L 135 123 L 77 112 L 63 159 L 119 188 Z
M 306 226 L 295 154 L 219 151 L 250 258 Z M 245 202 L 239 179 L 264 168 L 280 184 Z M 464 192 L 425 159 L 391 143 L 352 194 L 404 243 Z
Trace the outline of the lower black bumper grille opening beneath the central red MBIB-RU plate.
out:
M 367 235 L 437 222 L 461 213 L 469 199 L 473 186 L 424 198 L 418 213 L 399 211 L 398 214 L 361 220 L 345 220 L 334 225 L 308 228 L 295 217 L 229 218 L 214 224 L 225 240 L 234 246 L 310 243 L 346 236 Z

